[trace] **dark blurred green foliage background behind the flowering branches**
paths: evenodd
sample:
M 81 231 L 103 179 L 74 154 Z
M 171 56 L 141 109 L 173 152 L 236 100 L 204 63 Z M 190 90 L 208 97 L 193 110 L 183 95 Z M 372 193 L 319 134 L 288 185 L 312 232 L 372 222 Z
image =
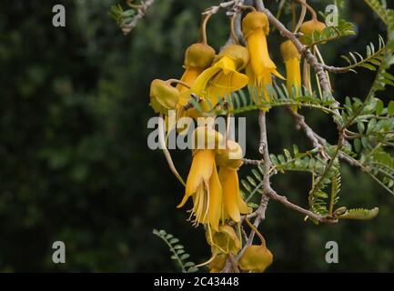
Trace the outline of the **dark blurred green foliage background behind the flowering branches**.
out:
M 179 237 L 193 261 L 209 256 L 201 227 L 193 228 L 185 209 L 176 209 L 182 186 L 162 153 L 146 146 L 146 122 L 153 115 L 150 81 L 182 74 L 184 50 L 197 40 L 199 13 L 218 1 L 157 0 L 127 36 L 107 14 L 113 3 L 0 2 L 0 271 L 177 271 L 153 228 Z M 324 45 L 328 64 L 345 65 L 339 55 L 364 52 L 384 35 L 363 1 L 345 3 L 341 13 L 358 25 L 359 35 Z M 64 28 L 52 26 L 55 4 L 66 6 Z M 228 35 L 225 15 L 214 16 L 208 29 L 218 49 Z M 281 41 L 278 33 L 269 38 L 283 72 Z M 334 76 L 336 96 L 363 98 L 373 76 L 364 69 Z M 379 97 L 387 104 L 392 93 Z M 302 113 L 335 141 L 327 116 Z M 256 117 L 248 115 L 250 157 L 258 157 Z M 283 109 L 269 112 L 268 135 L 272 153 L 292 144 L 310 148 Z M 187 176 L 190 153 L 174 152 L 174 158 Z M 349 166 L 342 174 L 340 204 L 379 206 L 379 216 L 314 226 L 270 202 L 261 225 L 275 256 L 269 271 L 394 271 L 394 197 Z M 273 178 L 278 192 L 301 206 L 307 206 L 309 183 L 305 175 Z M 52 263 L 56 240 L 66 243 L 64 265 Z M 324 260 L 328 240 L 338 242 L 339 264 Z

